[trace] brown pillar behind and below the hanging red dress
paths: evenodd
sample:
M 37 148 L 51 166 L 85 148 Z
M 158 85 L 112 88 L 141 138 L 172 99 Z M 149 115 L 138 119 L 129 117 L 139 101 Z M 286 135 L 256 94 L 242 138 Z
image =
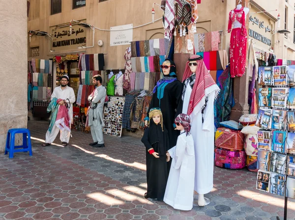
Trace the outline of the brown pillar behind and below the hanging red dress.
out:
M 236 5 L 239 0 L 236 0 Z M 249 8 L 249 0 L 242 0 L 240 4 L 243 7 Z M 250 12 L 249 12 L 250 13 Z M 249 13 L 246 16 L 246 30 L 248 34 L 249 26 Z M 247 46 L 248 50 L 248 46 Z M 248 51 L 246 52 L 248 54 Z M 248 59 L 246 59 L 247 67 Z M 252 71 L 251 71 L 252 73 Z M 250 75 L 252 77 L 252 75 Z M 249 105 L 248 105 L 248 92 L 249 92 L 249 75 L 246 73 L 242 77 L 234 78 L 234 98 L 236 105 L 232 108 L 231 120 L 237 121 L 242 115 L 249 114 Z

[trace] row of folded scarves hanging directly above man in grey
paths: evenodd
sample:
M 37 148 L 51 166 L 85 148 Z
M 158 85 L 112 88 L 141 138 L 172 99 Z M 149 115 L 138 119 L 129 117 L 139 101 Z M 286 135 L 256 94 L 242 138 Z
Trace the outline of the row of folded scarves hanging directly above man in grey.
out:
M 104 65 L 103 53 L 80 54 L 79 68 L 82 71 L 101 71 L 104 69 Z

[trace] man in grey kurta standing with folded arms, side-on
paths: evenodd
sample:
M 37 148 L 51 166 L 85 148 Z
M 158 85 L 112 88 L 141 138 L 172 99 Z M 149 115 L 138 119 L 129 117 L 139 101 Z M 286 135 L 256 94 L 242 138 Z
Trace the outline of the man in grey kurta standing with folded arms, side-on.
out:
M 92 83 L 96 86 L 94 92 L 88 97 L 89 113 L 88 121 L 91 130 L 93 143 L 89 144 L 92 147 L 104 147 L 102 127 L 103 123 L 103 106 L 106 98 L 106 90 L 101 84 L 102 78 L 100 75 L 94 75 Z

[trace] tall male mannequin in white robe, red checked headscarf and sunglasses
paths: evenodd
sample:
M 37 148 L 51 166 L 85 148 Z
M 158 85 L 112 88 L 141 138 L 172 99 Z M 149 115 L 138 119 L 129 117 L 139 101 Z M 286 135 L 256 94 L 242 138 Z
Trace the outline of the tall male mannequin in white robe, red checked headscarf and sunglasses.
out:
M 199 194 L 194 197 L 198 197 L 199 206 L 205 206 L 210 203 L 210 200 L 205 198 L 204 194 L 209 193 L 213 188 L 214 98 L 218 94 L 219 88 L 209 75 L 201 56 L 191 56 L 186 65 L 189 68 L 186 67 L 183 75 L 186 78 L 183 80 L 185 90 L 182 94 L 182 113 L 188 114 L 191 118 L 190 132 L 194 140 L 196 161 L 194 190 L 195 194 Z M 199 65 L 200 67 L 198 67 Z M 187 77 L 189 72 L 192 74 Z M 201 90 L 203 89 L 203 93 L 200 93 L 200 90 L 197 89 L 200 94 L 195 91 L 197 99 L 199 99 L 198 103 L 193 103 L 195 102 L 194 98 L 196 98 L 194 96 L 195 82 L 198 83 L 196 86 Z M 201 94 L 203 97 L 200 97 Z M 191 96 L 194 98 L 191 98 Z M 193 109 L 191 109 L 191 104 Z

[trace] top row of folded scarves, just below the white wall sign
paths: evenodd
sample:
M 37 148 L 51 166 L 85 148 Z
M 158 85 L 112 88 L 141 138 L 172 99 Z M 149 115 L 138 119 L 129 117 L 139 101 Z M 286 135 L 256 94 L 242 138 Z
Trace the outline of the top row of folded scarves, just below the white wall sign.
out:
M 131 57 L 166 55 L 169 48 L 169 40 L 152 39 L 146 41 L 131 42 Z

